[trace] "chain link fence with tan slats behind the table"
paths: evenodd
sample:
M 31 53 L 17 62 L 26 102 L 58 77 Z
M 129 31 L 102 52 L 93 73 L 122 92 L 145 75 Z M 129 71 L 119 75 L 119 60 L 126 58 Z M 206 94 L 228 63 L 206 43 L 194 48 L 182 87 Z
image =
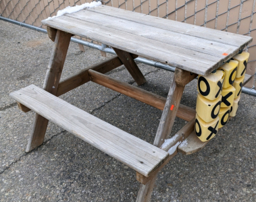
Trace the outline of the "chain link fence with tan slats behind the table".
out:
M 205 26 L 226 32 L 252 36 L 247 73 L 256 66 L 256 0 L 105 0 L 103 5 Z M 57 14 L 67 6 L 90 3 L 91 0 L 0 0 L 0 15 L 18 22 L 45 28 L 41 20 Z M 248 84 L 253 86 L 253 80 Z

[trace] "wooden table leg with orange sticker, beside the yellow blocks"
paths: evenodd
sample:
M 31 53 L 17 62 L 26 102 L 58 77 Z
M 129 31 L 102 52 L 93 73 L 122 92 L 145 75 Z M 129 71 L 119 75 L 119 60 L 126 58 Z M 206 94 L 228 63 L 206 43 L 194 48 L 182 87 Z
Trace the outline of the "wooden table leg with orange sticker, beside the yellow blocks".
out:
M 155 136 L 155 146 L 161 147 L 164 139 L 167 139 L 170 136 L 184 87 L 195 77 L 197 77 L 197 75 L 176 68 L 174 80 L 170 87 L 165 107 L 163 108 L 163 114 L 157 129 L 157 135 Z M 138 191 L 136 202 L 148 202 L 151 200 L 151 194 L 156 180 L 157 174 L 155 174 L 147 184 L 140 184 L 140 190 Z

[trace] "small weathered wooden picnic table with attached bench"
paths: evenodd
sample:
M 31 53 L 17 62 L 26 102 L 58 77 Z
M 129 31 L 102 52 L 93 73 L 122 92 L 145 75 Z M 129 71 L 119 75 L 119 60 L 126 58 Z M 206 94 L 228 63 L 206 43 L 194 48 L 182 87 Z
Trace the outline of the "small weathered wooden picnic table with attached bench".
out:
M 207 143 L 195 135 L 195 109 L 180 104 L 186 84 L 199 74 L 208 75 L 252 41 L 249 36 L 105 5 L 43 20 L 43 24 L 47 26 L 49 38 L 54 41 L 43 89 L 31 85 L 11 93 L 24 112 L 36 112 L 26 151 L 43 143 L 48 121 L 52 121 L 134 169 L 137 180 L 141 182 L 137 201 L 150 201 L 157 173 L 178 151 L 192 154 Z M 73 35 L 111 46 L 117 56 L 59 83 Z M 146 79 L 134 62 L 138 56 L 176 67 L 167 98 L 104 75 L 124 65 L 138 86 L 142 85 Z M 246 75 L 245 83 L 249 79 L 250 76 Z M 163 110 L 153 145 L 57 98 L 88 81 Z M 188 123 L 176 133 L 172 142 L 161 148 L 164 140 L 170 138 L 176 116 Z M 173 153 L 168 153 L 184 139 L 187 139 L 186 145 L 174 147 Z

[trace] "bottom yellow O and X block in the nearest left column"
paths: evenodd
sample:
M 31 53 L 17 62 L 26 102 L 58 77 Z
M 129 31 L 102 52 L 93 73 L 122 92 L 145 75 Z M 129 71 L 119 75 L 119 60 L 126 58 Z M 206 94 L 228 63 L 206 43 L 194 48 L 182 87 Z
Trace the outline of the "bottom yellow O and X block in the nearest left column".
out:
M 197 137 L 201 141 L 208 141 L 213 138 L 219 129 L 219 117 L 217 116 L 216 119 L 213 121 L 206 123 L 196 114 L 196 121 L 195 121 L 195 132 Z

